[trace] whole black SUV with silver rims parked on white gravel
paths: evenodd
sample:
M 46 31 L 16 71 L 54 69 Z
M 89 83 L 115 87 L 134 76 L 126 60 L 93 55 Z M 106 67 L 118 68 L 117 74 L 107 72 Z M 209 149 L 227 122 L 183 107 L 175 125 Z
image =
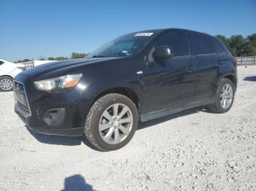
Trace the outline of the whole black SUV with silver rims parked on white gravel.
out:
M 15 112 L 39 132 L 85 134 L 94 147 L 124 147 L 138 121 L 209 106 L 227 112 L 236 58 L 221 40 L 184 29 L 126 34 L 86 58 L 46 63 L 15 77 Z

